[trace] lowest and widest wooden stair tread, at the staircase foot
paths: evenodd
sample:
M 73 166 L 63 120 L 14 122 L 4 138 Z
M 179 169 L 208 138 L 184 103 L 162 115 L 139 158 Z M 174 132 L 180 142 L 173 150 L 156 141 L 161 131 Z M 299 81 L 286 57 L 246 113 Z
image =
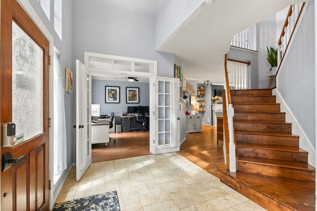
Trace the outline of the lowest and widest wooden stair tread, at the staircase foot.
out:
M 240 171 L 230 172 L 225 168 L 225 165 L 219 166 L 218 170 L 234 180 L 245 184 L 250 190 L 255 190 L 267 196 L 269 200 L 277 202 L 277 204 L 281 204 L 289 210 L 315 210 L 315 182 L 264 176 Z M 237 191 L 239 192 L 241 190 L 238 189 Z M 252 195 L 249 197 L 252 197 Z M 261 203 L 259 204 L 261 205 Z M 268 202 L 268 204 L 272 203 Z

